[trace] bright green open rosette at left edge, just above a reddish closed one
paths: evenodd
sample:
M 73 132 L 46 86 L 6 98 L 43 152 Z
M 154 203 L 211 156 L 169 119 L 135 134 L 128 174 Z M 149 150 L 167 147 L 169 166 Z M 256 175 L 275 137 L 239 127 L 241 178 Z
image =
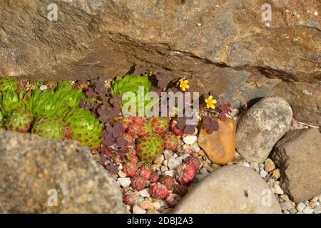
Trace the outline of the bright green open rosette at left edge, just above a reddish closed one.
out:
M 6 118 L 12 110 L 24 108 L 24 91 L 6 90 L 0 97 L 0 103 L 1 113 Z

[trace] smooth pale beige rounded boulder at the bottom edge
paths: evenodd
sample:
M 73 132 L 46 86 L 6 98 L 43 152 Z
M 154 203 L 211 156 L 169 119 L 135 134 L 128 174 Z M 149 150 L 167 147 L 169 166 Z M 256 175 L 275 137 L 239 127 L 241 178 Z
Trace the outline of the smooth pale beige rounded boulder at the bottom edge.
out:
M 281 208 L 270 187 L 255 171 L 228 165 L 199 182 L 173 213 L 276 214 L 281 213 Z

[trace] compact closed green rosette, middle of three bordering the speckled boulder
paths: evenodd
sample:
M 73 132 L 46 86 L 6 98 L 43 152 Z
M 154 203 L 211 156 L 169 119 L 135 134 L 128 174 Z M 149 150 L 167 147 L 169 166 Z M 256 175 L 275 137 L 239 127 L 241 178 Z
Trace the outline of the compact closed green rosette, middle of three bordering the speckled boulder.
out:
M 63 139 L 64 128 L 61 119 L 55 116 L 37 118 L 31 130 L 33 134 L 51 139 Z

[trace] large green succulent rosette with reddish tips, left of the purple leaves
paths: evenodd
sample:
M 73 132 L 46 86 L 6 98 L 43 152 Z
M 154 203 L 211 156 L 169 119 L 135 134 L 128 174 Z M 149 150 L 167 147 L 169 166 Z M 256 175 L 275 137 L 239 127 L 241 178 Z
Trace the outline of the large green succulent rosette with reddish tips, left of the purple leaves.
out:
M 63 122 L 71 130 L 68 138 L 90 148 L 96 148 L 101 143 L 101 125 L 90 111 L 82 108 L 69 110 Z

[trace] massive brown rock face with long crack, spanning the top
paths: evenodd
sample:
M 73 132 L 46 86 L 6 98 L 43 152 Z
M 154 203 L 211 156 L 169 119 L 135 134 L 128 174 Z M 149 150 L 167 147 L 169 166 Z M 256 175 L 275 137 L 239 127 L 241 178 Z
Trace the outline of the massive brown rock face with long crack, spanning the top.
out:
M 46 19 L 51 3 L 58 21 Z M 265 3 L 272 6 L 269 27 Z M 311 115 L 321 112 L 320 1 L 2 0 L 0 6 L 1 76 L 113 78 L 139 64 L 186 76 L 192 90 L 214 90 L 234 108 L 278 95 L 295 105 L 295 118 L 321 124 Z

